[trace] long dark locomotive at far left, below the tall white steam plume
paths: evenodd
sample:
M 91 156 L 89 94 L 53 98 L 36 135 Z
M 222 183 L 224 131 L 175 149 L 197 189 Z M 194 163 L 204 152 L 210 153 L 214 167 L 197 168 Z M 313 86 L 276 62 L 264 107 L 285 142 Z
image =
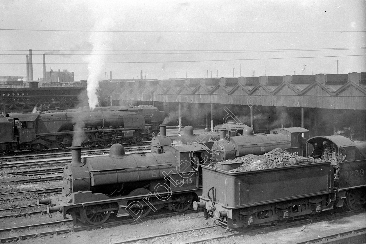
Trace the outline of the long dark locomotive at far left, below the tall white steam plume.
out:
M 68 150 L 73 139 L 84 148 L 95 144 L 102 147 L 113 143 L 141 144 L 157 133 L 157 125 L 163 118 L 146 111 L 139 113 L 125 110 L 7 113 L 0 118 L 0 129 L 4 131 L 0 138 L 0 153 L 23 149 L 36 152 L 47 148 Z M 73 132 L 77 132 L 74 138 Z

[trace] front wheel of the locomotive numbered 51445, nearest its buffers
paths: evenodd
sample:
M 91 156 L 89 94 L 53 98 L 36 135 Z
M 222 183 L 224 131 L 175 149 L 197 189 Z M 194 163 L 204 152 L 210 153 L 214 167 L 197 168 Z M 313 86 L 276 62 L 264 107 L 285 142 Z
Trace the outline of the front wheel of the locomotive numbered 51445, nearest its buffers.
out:
M 108 209 L 111 209 L 111 204 L 85 206 L 81 214 L 84 215 L 86 222 L 89 224 L 100 225 L 107 221 L 109 215 L 111 215 L 111 211 L 108 211 Z

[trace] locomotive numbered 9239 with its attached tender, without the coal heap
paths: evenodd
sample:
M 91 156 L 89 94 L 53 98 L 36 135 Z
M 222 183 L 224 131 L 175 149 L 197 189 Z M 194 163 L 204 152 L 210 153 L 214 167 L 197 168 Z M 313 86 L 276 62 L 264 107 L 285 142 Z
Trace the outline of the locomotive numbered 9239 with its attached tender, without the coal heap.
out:
M 306 144 L 307 155 L 320 161 L 236 173 L 202 165 L 203 193 L 194 209 L 204 208 L 206 219 L 229 229 L 284 224 L 343 205 L 361 209 L 366 202 L 366 142 L 315 136 Z

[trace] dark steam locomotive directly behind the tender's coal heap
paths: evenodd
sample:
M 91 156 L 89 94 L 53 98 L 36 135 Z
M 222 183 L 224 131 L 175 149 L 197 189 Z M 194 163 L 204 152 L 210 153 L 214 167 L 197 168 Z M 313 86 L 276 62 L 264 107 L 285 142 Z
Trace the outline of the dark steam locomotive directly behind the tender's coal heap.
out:
M 270 134 L 254 134 L 251 127 L 245 127 L 237 136 L 230 136 L 223 128 L 220 140 L 212 146 L 212 157 L 221 162 L 247 154 L 264 154 L 277 147 L 302 156 L 308 137 L 309 130 L 301 127 L 271 129 Z

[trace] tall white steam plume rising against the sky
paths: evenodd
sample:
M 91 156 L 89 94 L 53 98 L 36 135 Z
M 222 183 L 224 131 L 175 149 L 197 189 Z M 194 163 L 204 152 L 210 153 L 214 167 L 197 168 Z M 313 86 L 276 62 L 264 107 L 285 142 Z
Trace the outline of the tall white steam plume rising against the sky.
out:
M 111 18 L 104 18 L 99 20 L 94 29 L 96 31 L 100 30 L 112 30 L 113 20 Z M 91 55 L 85 57 L 88 64 L 88 78 L 87 78 L 87 96 L 89 102 L 89 109 L 92 111 L 99 104 L 97 89 L 99 88 L 99 82 L 101 77 L 103 77 L 106 61 L 106 54 L 101 51 L 111 50 L 111 45 L 109 44 L 108 35 L 104 32 L 93 32 L 90 35 L 90 42 L 93 44 L 93 50 Z M 99 54 L 97 54 L 99 53 Z

